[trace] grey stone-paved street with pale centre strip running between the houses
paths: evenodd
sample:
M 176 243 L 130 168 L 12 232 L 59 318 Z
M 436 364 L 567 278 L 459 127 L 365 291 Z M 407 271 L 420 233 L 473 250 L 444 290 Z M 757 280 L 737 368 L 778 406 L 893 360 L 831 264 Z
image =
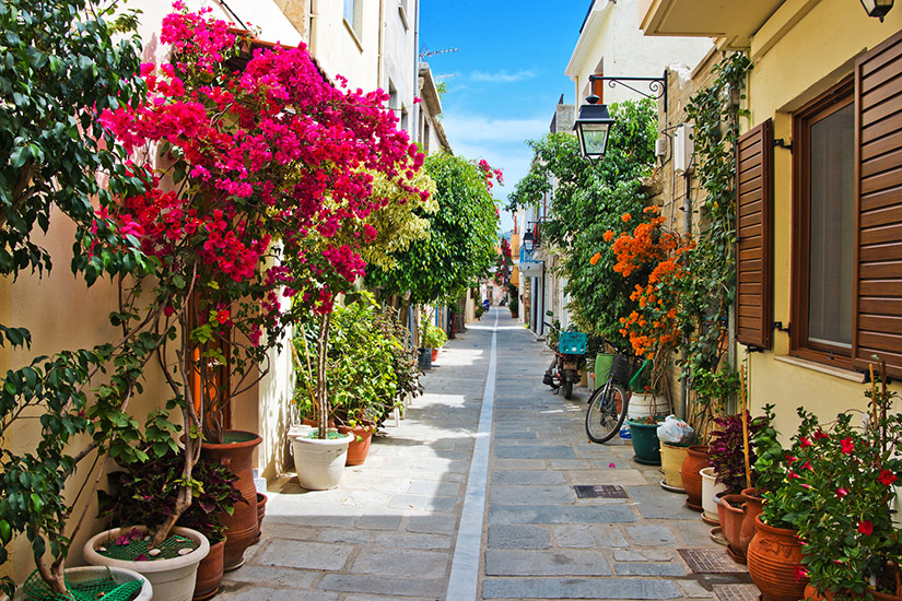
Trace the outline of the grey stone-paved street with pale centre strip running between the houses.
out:
M 726 557 L 711 527 L 659 486 L 658 468 L 632 460 L 629 441 L 587 440 L 587 391 L 553 394 L 541 384 L 550 358 L 492 309 L 445 346 L 425 396 L 338 488 L 270 483 L 262 540 L 219 599 L 752 599 L 747 573 L 690 570 L 678 549 Z M 494 408 L 480 422 L 483 393 Z M 600 484 L 628 498 L 574 491 Z M 472 528 L 481 535 L 462 533 Z

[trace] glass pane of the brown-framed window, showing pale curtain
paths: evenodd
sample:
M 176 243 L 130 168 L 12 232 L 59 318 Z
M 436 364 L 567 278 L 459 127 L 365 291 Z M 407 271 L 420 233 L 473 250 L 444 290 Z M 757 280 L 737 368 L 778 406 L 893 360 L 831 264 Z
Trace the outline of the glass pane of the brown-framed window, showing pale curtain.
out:
M 808 340 L 852 347 L 854 107 L 811 125 Z

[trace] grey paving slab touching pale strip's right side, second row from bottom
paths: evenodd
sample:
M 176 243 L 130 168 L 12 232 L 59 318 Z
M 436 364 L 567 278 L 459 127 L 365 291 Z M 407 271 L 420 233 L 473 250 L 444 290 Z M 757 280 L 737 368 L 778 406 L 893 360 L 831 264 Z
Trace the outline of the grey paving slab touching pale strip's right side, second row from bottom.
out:
M 600 551 L 511 551 L 485 552 L 487 576 L 611 576 Z

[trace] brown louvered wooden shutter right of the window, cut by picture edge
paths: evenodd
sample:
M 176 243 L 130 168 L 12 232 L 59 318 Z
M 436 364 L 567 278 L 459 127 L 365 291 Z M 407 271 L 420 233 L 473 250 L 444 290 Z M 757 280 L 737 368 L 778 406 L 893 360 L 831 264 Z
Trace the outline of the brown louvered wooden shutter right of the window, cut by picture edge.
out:
M 902 33 L 856 60 L 855 107 L 852 361 L 902 377 Z

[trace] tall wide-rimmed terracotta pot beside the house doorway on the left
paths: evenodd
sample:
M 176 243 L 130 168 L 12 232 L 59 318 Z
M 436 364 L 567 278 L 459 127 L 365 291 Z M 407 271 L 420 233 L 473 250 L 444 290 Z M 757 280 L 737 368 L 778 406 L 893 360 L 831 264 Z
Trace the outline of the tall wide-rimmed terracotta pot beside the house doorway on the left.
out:
M 244 552 L 257 535 L 257 487 L 254 485 L 251 455 L 262 438 L 251 432 L 226 431 L 221 445 L 203 443 L 201 455 L 225 466 L 238 480 L 235 487 L 247 503 L 236 503 L 232 515 L 223 515 L 226 527 L 223 569 L 231 571 L 244 564 Z

